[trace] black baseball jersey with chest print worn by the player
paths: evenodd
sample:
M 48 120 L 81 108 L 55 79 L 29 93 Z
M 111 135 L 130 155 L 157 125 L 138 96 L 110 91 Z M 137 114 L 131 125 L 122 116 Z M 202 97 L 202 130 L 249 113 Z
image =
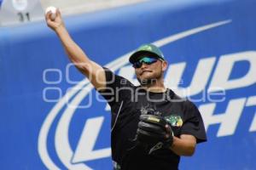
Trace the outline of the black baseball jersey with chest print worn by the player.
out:
M 122 170 L 178 168 L 180 156 L 172 150 L 155 150 L 149 155 L 134 143 L 141 114 L 164 116 L 172 125 L 176 137 L 190 134 L 195 136 L 197 143 L 207 140 L 201 113 L 192 102 L 179 98 L 171 89 L 167 89 L 165 93 L 148 92 L 104 69 L 107 89 L 100 93 L 111 107 L 111 148 L 116 167 L 121 167 Z

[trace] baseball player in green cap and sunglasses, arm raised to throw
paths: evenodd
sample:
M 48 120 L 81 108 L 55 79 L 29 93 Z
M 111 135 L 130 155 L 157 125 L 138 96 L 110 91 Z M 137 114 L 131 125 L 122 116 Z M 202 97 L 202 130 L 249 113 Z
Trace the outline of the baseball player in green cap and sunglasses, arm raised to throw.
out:
M 192 156 L 195 145 L 207 141 L 201 113 L 164 85 L 167 62 L 160 49 L 145 44 L 131 54 L 140 86 L 115 75 L 91 60 L 69 36 L 61 13 L 45 15 L 68 58 L 111 106 L 113 168 L 175 170 L 180 156 Z

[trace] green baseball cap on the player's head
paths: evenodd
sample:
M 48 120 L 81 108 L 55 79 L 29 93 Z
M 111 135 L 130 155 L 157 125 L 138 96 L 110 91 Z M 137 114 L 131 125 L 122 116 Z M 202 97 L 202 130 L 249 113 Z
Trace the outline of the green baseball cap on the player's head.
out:
M 141 47 L 137 48 L 133 54 L 131 54 L 129 61 L 131 64 L 133 64 L 145 55 L 150 55 L 158 59 L 166 60 L 164 54 L 160 51 L 160 48 L 153 44 L 143 44 Z

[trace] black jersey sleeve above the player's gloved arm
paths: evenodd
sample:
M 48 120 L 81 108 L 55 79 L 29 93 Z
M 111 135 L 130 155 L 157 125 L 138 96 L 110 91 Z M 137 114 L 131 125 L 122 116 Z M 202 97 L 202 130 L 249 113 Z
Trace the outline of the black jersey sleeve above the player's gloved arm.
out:
M 190 101 L 185 102 L 185 115 L 181 134 L 195 136 L 196 143 L 207 141 L 207 133 L 201 113 Z

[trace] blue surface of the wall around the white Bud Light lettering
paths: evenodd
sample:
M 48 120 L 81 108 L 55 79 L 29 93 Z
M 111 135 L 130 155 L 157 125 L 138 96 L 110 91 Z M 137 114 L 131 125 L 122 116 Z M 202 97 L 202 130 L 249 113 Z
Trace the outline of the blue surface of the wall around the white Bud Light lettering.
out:
M 214 57 L 216 61 L 208 77 L 209 81 L 205 87 L 207 89 L 221 56 L 256 51 L 255 7 L 256 2 L 253 0 L 162 0 L 96 14 L 67 17 L 65 22 L 67 30 L 86 54 L 97 63 L 108 65 L 142 43 L 156 42 L 179 32 L 229 20 L 222 26 L 160 47 L 170 65 L 182 62 L 186 64 L 183 84 L 180 85 L 183 88 L 188 87 L 195 78 L 193 75 L 198 62 Z M 253 56 L 256 59 L 256 55 Z M 67 94 L 67 89 L 76 85 L 70 83 L 69 79 L 77 82 L 84 80 L 73 67 L 68 70 L 68 77 L 66 76 L 68 63 L 61 42 L 44 21 L 26 26 L 0 28 L 1 169 L 47 169 L 49 161 L 43 161 L 45 154 L 40 150 L 47 150 L 49 159 L 60 169 L 70 169 L 76 165 L 81 166 L 77 169 L 112 168 L 108 154 L 92 160 L 83 159 L 82 156 L 79 162 L 73 161 L 82 139 L 84 123 L 92 118 L 103 117 L 94 150 L 110 146 L 109 111 L 105 108 L 106 103 L 96 101 L 94 95 L 90 108 L 75 109 L 73 114 L 70 113 L 70 121 L 66 123 L 67 142 L 73 155 L 70 157 L 67 153 L 67 157 L 63 158 L 58 154 L 56 147 L 63 147 L 65 150 L 65 145 L 56 142 L 56 130 L 68 107 L 60 106 L 55 111 L 55 116 L 52 109 L 60 104 L 57 102 L 61 99 L 60 96 L 63 97 Z M 126 61 L 123 61 L 123 64 L 115 64 L 121 65 L 113 69 L 117 73 L 120 73 L 122 68 L 131 67 Z M 247 60 L 237 62 L 233 65 L 230 79 L 246 77 L 252 66 Z M 114 65 L 110 67 L 113 68 Z M 226 111 L 230 101 L 241 99 L 242 102 L 244 99 L 245 104 L 236 124 L 236 131 L 218 136 L 220 123 L 210 123 L 207 128 L 208 142 L 198 145 L 195 156 L 184 157 L 180 164 L 181 169 L 255 169 L 256 133 L 255 129 L 249 130 L 250 127 L 256 126 L 256 122 L 253 125 L 256 105 L 255 74 L 251 75 L 252 83 L 228 89 L 225 100 L 215 103 L 217 106 L 214 114 L 218 115 Z M 84 82 L 84 87 L 86 83 Z M 78 90 L 70 100 L 75 99 L 80 92 Z M 95 93 L 93 89 L 92 92 Z M 200 92 L 191 97 L 200 98 L 202 94 L 203 92 Z M 251 105 L 248 104 L 249 99 Z M 79 104 L 85 105 L 89 101 L 89 97 L 84 96 Z M 200 107 L 212 102 L 206 99 L 195 104 Z M 49 115 L 52 116 L 52 121 L 48 122 L 46 147 L 42 148 L 39 144 L 40 135 L 43 126 L 47 127 L 46 119 Z M 92 128 L 91 131 L 93 130 L 95 129 Z M 63 161 L 65 159 L 66 161 Z

